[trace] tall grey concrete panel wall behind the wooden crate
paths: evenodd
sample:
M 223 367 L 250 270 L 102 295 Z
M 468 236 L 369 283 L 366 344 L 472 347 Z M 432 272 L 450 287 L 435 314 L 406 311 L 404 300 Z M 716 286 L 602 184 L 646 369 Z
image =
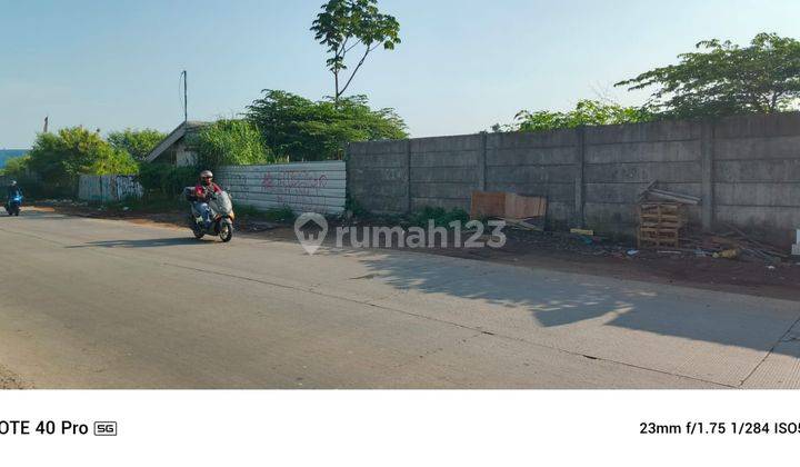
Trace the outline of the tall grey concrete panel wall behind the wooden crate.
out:
M 702 198 L 698 228 L 724 223 L 787 244 L 800 227 L 800 113 L 540 133 L 351 143 L 348 189 L 368 210 L 469 209 L 481 189 L 546 196 L 554 227 L 631 235 L 653 180 Z

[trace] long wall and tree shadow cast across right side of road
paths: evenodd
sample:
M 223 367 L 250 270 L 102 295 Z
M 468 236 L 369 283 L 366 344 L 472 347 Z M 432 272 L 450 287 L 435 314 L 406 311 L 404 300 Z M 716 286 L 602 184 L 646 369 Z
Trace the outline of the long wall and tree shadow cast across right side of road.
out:
M 800 316 L 796 304 L 759 297 L 441 257 L 421 261 L 418 255 L 397 252 L 349 255 L 373 272 L 367 280 L 424 292 L 433 300 L 446 295 L 496 305 L 501 308 L 487 312 L 497 312 L 498 321 L 504 319 L 503 308 L 523 309 L 542 328 L 611 326 L 768 351 Z

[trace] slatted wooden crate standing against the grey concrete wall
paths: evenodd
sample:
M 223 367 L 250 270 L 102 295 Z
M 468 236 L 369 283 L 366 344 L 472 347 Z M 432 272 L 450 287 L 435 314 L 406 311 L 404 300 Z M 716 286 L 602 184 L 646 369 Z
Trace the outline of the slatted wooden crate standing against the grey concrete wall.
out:
M 683 205 L 677 202 L 642 202 L 639 205 L 639 248 L 680 247 L 680 232 L 686 226 Z

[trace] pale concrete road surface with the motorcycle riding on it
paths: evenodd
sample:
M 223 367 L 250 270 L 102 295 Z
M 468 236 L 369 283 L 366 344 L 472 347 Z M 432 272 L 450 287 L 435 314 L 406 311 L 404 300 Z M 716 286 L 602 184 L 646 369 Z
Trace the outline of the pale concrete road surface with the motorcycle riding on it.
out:
M 0 382 L 800 388 L 800 304 L 407 251 L 0 218 Z

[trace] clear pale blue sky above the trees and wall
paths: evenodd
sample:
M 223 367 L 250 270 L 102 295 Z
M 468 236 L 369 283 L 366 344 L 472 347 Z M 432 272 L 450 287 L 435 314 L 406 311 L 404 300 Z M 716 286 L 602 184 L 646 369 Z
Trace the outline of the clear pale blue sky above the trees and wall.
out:
M 51 128 L 169 131 L 241 112 L 261 89 L 331 93 L 309 31 L 323 0 L 0 0 L 0 148 Z M 800 37 L 797 0 L 381 0 L 403 43 L 378 52 L 352 92 L 394 107 L 412 136 L 469 133 L 520 109 L 567 109 L 674 61 L 700 39 Z

